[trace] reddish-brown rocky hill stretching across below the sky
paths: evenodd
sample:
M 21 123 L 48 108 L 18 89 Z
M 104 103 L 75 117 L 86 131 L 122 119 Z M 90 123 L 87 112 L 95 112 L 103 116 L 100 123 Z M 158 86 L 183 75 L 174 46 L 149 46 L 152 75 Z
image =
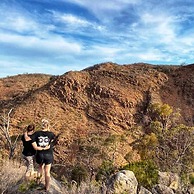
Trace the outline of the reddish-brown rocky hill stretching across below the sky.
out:
M 105 142 L 112 134 L 128 134 L 125 141 L 117 143 L 116 150 L 114 146 L 112 150 L 104 148 L 118 165 L 125 164 L 124 156 L 132 150 L 130 143 L 134 140 L 130 130 L 144 124 L 150 103 L 167 103 L 180 109 L 182 122 L 193 125 L 193 72 L 194 65 L 103 63 L 60 76 L 25 74 L 2 78 L 0 112 L 13 109 L 12 135 L 22 134 L 31 122 L 38 128 L 42 118 L 49 119 L 52 130 L 60 133 L 56 164 L 76 164 L 80 145 L 103 149 L 97 136 Z M 132 160 L 138 158 L 133 154 Z M 98 164 L 99 158 L 93 162 Z

